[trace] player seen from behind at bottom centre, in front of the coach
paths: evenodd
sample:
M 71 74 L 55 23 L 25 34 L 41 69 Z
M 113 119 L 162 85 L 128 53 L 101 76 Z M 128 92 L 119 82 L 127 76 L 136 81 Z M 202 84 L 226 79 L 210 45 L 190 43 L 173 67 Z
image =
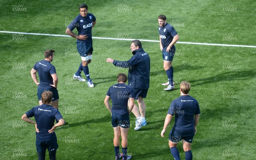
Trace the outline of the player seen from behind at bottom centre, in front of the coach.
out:
M 115 158 L 119 160 L 130 160 L 131 156 L 127 155 L 128 147 L 128 131 L 130 128 L 129 114 L 134 107 L 134 91 L 131 86 L 126 85 L 127 76 L 124 73 L 119 73 L 117 76 L 117 84 L 108 89 L 104 103 L 107 109 L 111 112 L 112 126 L 114 129 L 114 150 Z M 112 100 L 112 108 L 109 101 Z M 127 110 L 128 100 L 129 108 Z M 119 153 L 119 138 L 122 137 L 122 156 Z

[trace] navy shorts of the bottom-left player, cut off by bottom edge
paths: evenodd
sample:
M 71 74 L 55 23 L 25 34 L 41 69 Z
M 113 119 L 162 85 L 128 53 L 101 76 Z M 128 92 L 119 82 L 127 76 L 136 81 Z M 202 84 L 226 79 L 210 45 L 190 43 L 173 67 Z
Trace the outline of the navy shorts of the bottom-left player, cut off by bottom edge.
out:
M 36 151 L 38 152 L 38 160 L 45 160 L 45 151 L 48 149 L 50 160 L 56 159 L 56 151 L 58 149 L 57 138 L 49 141 L 35 141 Z

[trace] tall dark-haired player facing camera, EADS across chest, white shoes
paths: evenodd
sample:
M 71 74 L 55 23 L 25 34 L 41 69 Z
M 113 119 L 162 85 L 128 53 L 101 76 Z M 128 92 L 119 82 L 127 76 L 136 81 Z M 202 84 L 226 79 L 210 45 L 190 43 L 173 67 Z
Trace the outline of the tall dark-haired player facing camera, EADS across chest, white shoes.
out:
M 79 52 L 82 62 L 80 63 L 79 69 L 74 74 L 73 78 L 79 81 L 86 81 L 81 77 L 81 72 L 87 78 L 87 85 L 94 87 L 92 80 L 90 79 L 88 64 L 91 63 L 93 54 L 93 39 L 92 29 L 96 23 L 96 17 L 88 13 L 88 7 L 86 4 L 79 6 L 80 14 L 67 26 L 66 34 L 77 39 L 76 48 Z M 73 29 L 77 29 L 78 35 L 74 34 Z

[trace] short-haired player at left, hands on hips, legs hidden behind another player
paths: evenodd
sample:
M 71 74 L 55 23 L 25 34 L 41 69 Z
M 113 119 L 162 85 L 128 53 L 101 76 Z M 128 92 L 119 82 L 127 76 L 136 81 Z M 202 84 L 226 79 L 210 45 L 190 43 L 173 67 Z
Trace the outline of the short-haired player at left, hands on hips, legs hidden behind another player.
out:
M 58 96 L 58 90 L 57 90 L 58 76 L 56 74 L 55 67 L 51 64 L 54 54 L 55 54 L 54 50 L 52 49 L 46 50 L 44 52 L 44 60 L 41 60 L 35 63 L 30 73 L 35 84 L 38 85 L 37 95 L 38 95 L 39 105 L 43 104 L 41 100 L 41 94 L 44 91 L 52 91 L 53 97 L 52 97 L 51 104 L 55 109 L 58 109 L 58 102 L 59 102 L 59 96 Z M 36 72 L 38 72 L 40 83 L 37 80 Z

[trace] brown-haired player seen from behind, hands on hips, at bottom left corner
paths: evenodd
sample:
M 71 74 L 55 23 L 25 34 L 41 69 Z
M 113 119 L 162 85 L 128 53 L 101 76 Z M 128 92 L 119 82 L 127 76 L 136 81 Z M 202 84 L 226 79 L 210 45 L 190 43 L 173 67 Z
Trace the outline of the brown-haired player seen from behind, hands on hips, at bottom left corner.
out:
M 56 150 L 58 149 L 57 137 L 55 129 L 64 125 L 64 120 L 58 109 L 50 106 L 52 101 L 52 92 L 44 91 L 41 95 L 42 105 L 33 107 L 21 117 L 22 120 L 35 125 L 36 134 L 36 150 L 38 160 L 45 159 L 45 151 L 48 149 L 50 160 L 56 159 Z M 29 117 L 35 117 L 35 121 Z M 54 125 L 54 120 L 58 123 Z

